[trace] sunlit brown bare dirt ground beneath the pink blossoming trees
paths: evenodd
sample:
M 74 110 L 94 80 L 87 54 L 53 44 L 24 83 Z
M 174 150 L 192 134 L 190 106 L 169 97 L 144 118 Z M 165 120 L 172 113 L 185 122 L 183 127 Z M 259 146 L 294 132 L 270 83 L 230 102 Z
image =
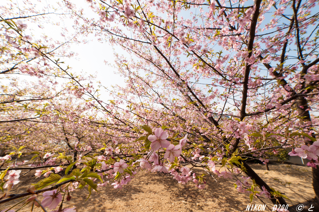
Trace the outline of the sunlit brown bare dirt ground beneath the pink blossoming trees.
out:
M 263 164 L 251 164 L 251 167 L 268 185 L 285 193 L 290 199 L 286 200 L 290 206 L 315 197 L 312 187 L 312 172 L 309 167 L 297 165 L 287 167 L 287 164 L 270 164 L 270 171 L 265 171 Z M 204 172 L 203 169 L 199 168 L 192 170 L 196 173 Z M 30 183 L 39 181 L 33 176 L 34 172 L 33 170 L 27 173 L 26 177 L 20 181 L 19 187 L 14 186 L 11 194 L 24 193 Z M 192 182 L 186 185 L 179 184 L 171 175 L 139 172 L 128 185 L 123 186 L 122 190 L 114 189 L 110 182 L 109 185 L 99 189 L 100 193 L 93 192 L 87 201 L 85 201 L 88 196 L 87 189 L 74 191 L 71 193 L 71 200 L 63 203 L 63 208 L 75 206 L 77 212 L 241 212 L 246 210 L 248 204 L 263 204 L 256 198 L 250 203 L 249 194 L 238 193 L 233 186 L 235 180 L 218 177 L 215 179 L 217 182 L 211 176 L 206 175 L 206 188 L 200 190 Z M 285 187 L 275 179 L 279 179 L 283 183 L 290 182 L 292 190 L 289 189 L 288 184 Z M 41 200 L 42 194 L 39 194 L 38 198 Z M 0 211 L 17 202 L 19 201 L 0 205 Z M 265 201 L 265 203 L 269 208 L 272 207 L 271 201 Z M 27 206 L 19 211 L 31 211 L 30 208 L 31 206 Z M 41 208 L 35 208 L 33 211 L 42 210 Z M 270 210 L 268 209 L 268 211 Z

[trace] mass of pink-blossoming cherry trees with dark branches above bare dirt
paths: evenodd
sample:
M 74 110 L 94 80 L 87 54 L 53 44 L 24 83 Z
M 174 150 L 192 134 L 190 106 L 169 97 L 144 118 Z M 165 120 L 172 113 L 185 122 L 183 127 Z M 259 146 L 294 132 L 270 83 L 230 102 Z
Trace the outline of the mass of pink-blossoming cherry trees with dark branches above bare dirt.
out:
M 207 177 L 230 178 L 251 200 L 287 205 L 246 162 L 267 164 L 287 152 L 310 160 L 319 197 L 315 1 L 87 3 L 98 18 L 68 1 L 52 12 L 74 20 L 64 42 L 26 34 L 28 21 L 50 12 L 28 3 L 24 14 L 13 12 L 18 5 L 1 8 L 0 77 L 8 83 L 0 97 L 0 204 L 19 199 L 17 207 L 75 211 L 63 208 L 71 191 L 91 194 L 108 183 L 121 189 L 151 171 L 199 189 Z M 130 55 L 115 53 L 113 65 L 126 86 L 98 82 L 111 100 L 100 98 L 94 77 L 72 74 L 60 59 L 73 56 L 68 44 L 80 42 L 78 35 L 93 32 Z M 36 79 L 21 83 L 19 75 Z M 44 178 L 11 194 L 27 172 Z

